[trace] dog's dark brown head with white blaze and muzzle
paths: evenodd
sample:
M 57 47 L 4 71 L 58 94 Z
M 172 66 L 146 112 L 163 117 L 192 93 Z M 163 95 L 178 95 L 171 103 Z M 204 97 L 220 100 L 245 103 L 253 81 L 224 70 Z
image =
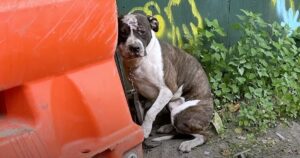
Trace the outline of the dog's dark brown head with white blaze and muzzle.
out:
M 153 16 L 130 13 L 118 18 L 118 49 L 125 59 L 147 55 L 146 47 L 150 43 L 152 31 L 158 31 L 158 21 Z

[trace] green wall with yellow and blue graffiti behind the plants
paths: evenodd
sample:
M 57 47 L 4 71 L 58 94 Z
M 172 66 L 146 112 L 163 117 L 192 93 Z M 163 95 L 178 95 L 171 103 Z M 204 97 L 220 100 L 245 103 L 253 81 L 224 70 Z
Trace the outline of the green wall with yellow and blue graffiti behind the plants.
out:
M 204 18 L 218 19 L 227 32 L 221 40 L 231 45 L 239 37 L 232 25 L 238 22 L 240 9 L 261 13 L 270 23 L 283 22 L 293 29 L 300 26 L 296 14 L 300 0 L 118 0 L 117 4 L 119 15 L 134 10 L 155 15 L 161 26 L 157 36 L 177 46 L 182 45 L 185 34 L 194 35 L 197 27 L 203 27 Z

